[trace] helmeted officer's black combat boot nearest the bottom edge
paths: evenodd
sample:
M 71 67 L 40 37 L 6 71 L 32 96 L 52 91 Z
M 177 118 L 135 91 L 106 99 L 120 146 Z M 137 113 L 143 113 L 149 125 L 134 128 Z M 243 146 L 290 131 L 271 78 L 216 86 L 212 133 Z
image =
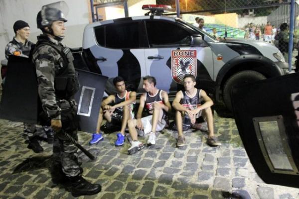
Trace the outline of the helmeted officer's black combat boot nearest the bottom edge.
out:
M 79 197 L 84 195 L 94 195 L 101 192 L 102 187 L 99 184 L 91 184 L 87 182 L 81 175 L 69 177 L 72 184 L 72 196 Z

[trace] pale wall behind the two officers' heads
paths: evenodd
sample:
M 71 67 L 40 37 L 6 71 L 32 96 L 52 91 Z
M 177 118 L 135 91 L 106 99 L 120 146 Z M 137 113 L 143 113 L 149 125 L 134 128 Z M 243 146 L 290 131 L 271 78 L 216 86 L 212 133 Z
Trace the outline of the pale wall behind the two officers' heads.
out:
M 41 33 L 36 27 L 36 15 L 42 5 L 58 0 L 0 0 L 0 60 L 4 59 L 5 45 L 12 39 L 12 25 L 16 20 L 24 20 L 30 25 L 29 40 L 36 42 Z M 69 47 L 81 47 L 83 30 L 89 23 L 89 0 L 65 0 L 69 7 L 66 16 L 66 38 L 63 44 Z

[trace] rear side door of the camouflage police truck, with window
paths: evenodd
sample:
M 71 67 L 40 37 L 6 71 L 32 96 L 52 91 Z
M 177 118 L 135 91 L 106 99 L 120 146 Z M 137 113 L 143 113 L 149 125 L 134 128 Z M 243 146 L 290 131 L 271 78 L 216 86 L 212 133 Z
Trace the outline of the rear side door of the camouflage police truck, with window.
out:
M 116 76 L 125 79 L 127 89 L 137 91 L 141 76 L 146 75 L 139 24 L 139 20 L 125 20 L 95 28 L 98 43 L 91 51 L 102 75 L 109 77 L 106 84 L 109 94 L 115 92 L 113 79 Z

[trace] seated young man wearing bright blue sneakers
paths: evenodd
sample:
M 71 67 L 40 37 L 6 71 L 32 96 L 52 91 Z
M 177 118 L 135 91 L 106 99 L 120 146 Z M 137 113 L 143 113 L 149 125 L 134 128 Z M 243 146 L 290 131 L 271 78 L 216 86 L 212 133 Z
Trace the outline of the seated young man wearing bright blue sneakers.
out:
M 128 119 L 134 118 L 136 92 L 126 90 L 126 84 L 122 77 L 114 78 L 113 84 L 117 90 L 117 94 L 111 95 L 102 101 L 96 133 L 92 135 L 92 139 L 89 142 L 90 144 L 98 143 L 104 139 L 103 134 L 100 132 L 103 115 L 107 122 L 111 122 L 116 126 L 121 125 L 121 130 L 117 134 L 115 145 L 122 146 L 125 142 L 127 121 Z

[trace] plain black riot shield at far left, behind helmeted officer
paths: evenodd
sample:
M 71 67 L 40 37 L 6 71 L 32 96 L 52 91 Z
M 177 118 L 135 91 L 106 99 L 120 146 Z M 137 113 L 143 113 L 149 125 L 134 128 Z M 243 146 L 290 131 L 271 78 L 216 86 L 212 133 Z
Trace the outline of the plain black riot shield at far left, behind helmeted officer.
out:
M 0 102 L 0 118 L 37 122 L 37 81 L 28 58 L 10 55 Z

